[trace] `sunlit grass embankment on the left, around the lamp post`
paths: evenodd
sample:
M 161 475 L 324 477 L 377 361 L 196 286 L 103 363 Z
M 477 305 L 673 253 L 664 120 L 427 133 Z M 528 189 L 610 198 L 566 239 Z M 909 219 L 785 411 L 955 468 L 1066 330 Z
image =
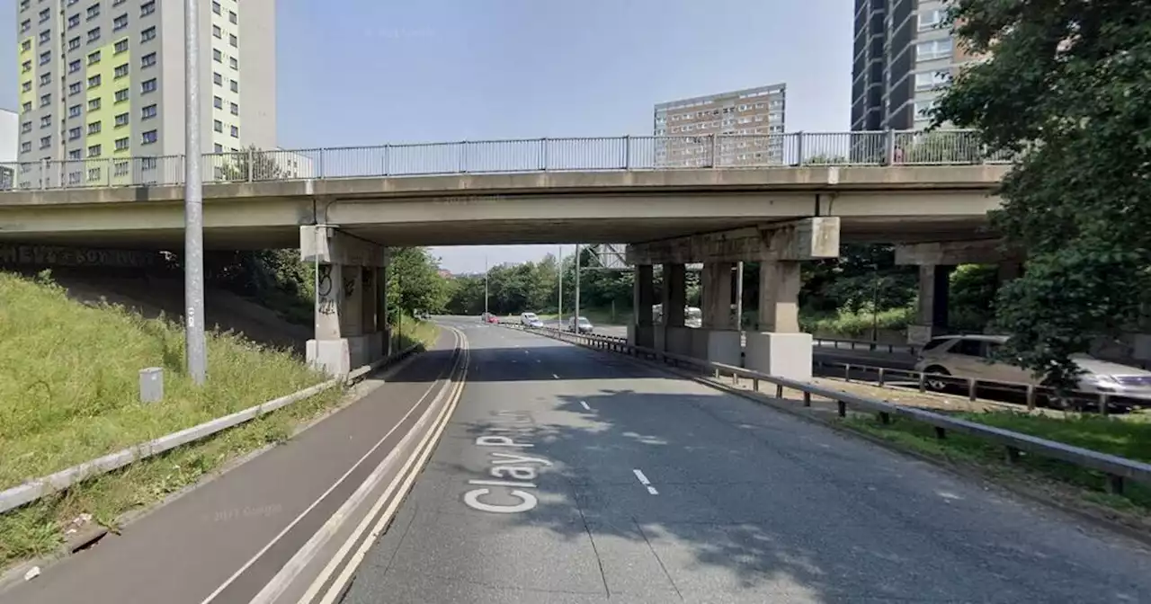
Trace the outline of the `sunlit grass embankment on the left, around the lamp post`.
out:
M 434 326 L 412 329 L 435 337 Z M 85 306 L 44 280 L 7 273 L 0 273 L 0 489 L 325 380 L 288 351 L 209 332 L 208 383 L 193 388 L 183 370 L 181 326 L 122 307 Z M 165 368 L 165 399 L 143 405 L 138 370 L 153 366 Z M 82 513 L 114 526 L 120 514 L 283 441 L 341 395 L 329 390 L 0 514 L 0 567 L 54 550 L 62 528 Z

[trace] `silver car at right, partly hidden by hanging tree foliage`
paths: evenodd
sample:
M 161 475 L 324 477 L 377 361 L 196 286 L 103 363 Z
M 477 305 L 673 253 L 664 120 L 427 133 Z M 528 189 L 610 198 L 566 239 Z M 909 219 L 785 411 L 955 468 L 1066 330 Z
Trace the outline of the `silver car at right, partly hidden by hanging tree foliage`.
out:
M 945 390 L 946 377 L 974 377 L 992 382 L 1042 385 L 1044 376 L 1036 376 L 1030 369 L 1005 362 L 998 351 L 1009 336 L 954 335 L 932 338 L 920 352 L 915 370 L 928 376 L 924 382 L 932 390 Z M 1075 354 L 1072 360 L 1083 373 L 1076 390 L 1091 393 L 1108 393 L 1118 398 L 1135 399 L 1151 404 L 1151 372 L 1118 362 L 1096 359 L 1089 354 Z

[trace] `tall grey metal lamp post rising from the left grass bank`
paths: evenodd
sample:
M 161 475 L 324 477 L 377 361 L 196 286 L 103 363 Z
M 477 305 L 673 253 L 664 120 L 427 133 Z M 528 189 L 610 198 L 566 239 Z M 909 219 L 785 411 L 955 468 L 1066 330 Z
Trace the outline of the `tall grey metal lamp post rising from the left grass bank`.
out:
M 188 375 L 207 379 L 204 337 L 204 188 L 200 176 L 199 1 L 184 0 L 184 337 Z

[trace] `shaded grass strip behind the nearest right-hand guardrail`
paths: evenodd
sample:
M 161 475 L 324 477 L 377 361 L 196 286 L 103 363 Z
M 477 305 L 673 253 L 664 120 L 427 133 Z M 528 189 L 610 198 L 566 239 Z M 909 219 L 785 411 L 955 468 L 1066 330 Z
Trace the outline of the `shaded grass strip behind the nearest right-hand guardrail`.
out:
M 956 415 L 997 428 L 1151 462 L 1151 421 L 1144 415 L 1053 418 L 1009 411 Z M 1100 473 L 1027 453 L 1016 464 L 1007 466 L 1004 464 L 1005 452 L 1001 446 L 974 436 L 948 433 L 946 438 L 939 439 L 932 427 L 900 418 L 892 418 L 887 426 L 867 415 L 851 416 L 845 422 L 854 429 L 935 458 L 975 465 L 993 474 L 1009 474 L 1015 479 L 1034 475 L 1054 483 L 1074 486 L 1082 489 L 1077 495 L 1085 502 L 1133 513 L 1143 519 L 1151 518 L 1151 487 L 1146 484 L 1127 481 L 1122 495 L 1112 495 L 1104 491 L 1105 480 Z

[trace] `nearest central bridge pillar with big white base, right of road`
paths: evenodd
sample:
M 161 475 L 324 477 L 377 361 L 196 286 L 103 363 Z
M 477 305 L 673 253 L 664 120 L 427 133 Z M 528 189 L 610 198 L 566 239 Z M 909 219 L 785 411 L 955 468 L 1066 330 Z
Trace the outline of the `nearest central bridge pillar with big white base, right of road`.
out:
M 747 334 L 747 367 L 790 380 L 811 379 L 811 334 L 799 328 L 800 262 L 760 263 L 759 330 Z

